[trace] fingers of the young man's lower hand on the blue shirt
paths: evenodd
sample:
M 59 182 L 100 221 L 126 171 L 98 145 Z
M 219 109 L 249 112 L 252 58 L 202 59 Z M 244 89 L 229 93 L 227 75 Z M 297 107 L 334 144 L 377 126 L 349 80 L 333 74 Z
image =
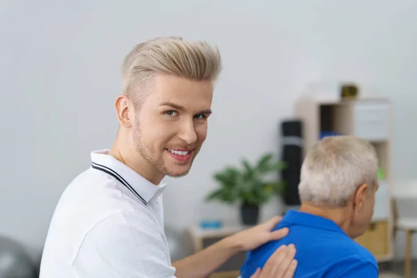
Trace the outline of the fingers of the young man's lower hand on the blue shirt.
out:
M 281 277 L 284 277 L 284 275 L 286 275 L 287 270 L 289 270 L 288 275 L 291 275 L 291 271 L 294 268 L 294 265 L 291 265 L 294 259 L 294 256 L 295 256 L 295 246 L 293 244 L 288 245 L 288 247 L 286 247 L 285 245 L 281 245 L 270 256 L 268 261 L 266 261 L 259 278 L 261 277 L 262 278 L 263 277 L 281 278 Z M 295 271 L 295 269 L 293 271 Z

